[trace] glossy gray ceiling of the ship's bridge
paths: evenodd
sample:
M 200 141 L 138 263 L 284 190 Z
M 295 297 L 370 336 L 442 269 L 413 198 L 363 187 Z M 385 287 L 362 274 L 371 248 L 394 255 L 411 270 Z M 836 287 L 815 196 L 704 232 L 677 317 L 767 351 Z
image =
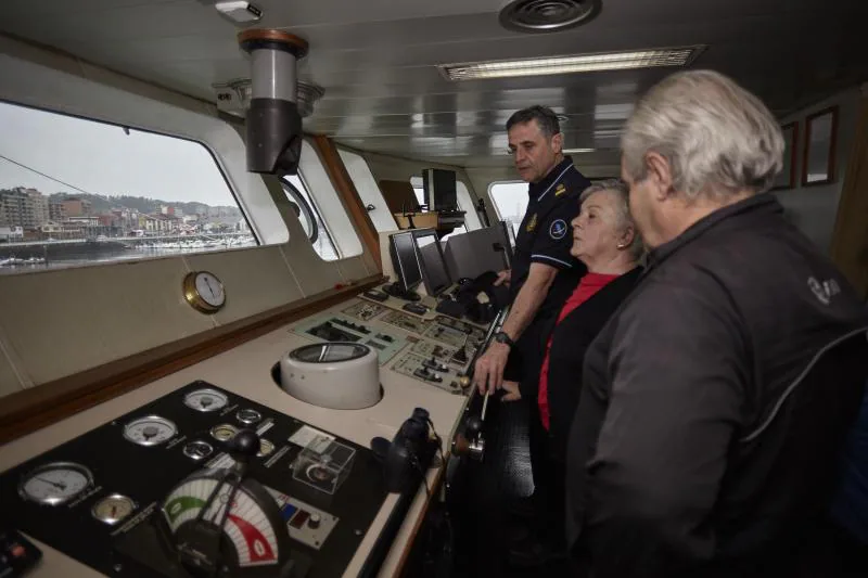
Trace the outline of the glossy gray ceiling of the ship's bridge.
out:
M 2 0 L 0 30 L 206 100 L 248 75 L 242 29 L 208 0 Z M 503 124 L 531 104 L 566 115 L 570 146 L 616 160 L 625 111 L 669 69 L 449 82 L 437 64 L 703 43 L 694 63 L 733 76 L 780 115 L 868 78 L 857 0 L 603 0 L 564 33 L 503 29 L 506 0 L 260 0 L 257 26 L 306 38 L 299 77 L 324 98 L 306 130 L 369 151 L 507 164 Z M 611 150 L 610 150 L 611 149 Z

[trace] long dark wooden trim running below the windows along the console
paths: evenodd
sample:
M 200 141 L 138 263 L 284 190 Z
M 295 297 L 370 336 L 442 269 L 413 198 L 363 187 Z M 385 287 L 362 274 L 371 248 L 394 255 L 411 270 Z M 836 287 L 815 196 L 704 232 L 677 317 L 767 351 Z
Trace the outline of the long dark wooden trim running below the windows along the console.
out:
M 381 282 L 380 275 L 368 277 L 307 299 L 5 396 L 0 403 L 0 445 L 332 307 Z

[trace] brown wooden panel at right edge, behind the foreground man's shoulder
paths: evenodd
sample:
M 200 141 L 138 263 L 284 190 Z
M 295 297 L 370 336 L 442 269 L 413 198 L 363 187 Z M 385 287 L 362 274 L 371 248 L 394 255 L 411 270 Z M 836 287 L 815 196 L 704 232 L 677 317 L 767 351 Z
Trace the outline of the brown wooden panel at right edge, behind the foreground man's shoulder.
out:
M 856 133 L 847 159 L 829 253 L 834 264 L 868 298 L 868 93 L 859 102 Z

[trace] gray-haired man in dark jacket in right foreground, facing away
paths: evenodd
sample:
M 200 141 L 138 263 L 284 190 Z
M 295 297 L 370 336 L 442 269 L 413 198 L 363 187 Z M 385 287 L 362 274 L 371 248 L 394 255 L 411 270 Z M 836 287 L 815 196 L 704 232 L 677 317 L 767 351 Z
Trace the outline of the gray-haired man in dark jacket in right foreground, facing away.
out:
M 666 78 L 627 123 L 651 253 L 586 354 L 567 450 L 567 540 L 595 578 L 813 570 L 868 317 L 764 194 L 782 151 L 768 108 L 713 72 Z

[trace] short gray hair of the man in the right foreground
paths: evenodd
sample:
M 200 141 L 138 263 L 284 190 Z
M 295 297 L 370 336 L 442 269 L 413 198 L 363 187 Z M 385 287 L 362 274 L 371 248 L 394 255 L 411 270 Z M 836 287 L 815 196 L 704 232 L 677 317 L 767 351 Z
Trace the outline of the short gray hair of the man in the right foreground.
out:
M 673 188 L 688 200 L 767 191 L 783 166 L 783 136 L 768 107 L 711 70 L 677 73 L 653 87 L 621 149 L 631 180 L 646 178 L 647 153 L 665 157 Z

